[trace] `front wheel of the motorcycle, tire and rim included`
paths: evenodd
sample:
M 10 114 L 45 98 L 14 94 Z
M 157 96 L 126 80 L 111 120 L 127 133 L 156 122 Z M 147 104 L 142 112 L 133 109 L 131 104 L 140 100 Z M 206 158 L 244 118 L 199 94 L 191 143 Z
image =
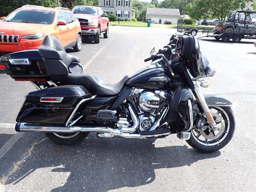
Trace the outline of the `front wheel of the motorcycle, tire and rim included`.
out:
M 191 130 L 191 137 L 187 140 L 191 147 L 206 153 L 225 147 L 235 132 L 235 118 L 230 107 L 212 107 L 210 109 L 217 129 L 213 131 L 209 124 L 205 124 L 201 129 Z

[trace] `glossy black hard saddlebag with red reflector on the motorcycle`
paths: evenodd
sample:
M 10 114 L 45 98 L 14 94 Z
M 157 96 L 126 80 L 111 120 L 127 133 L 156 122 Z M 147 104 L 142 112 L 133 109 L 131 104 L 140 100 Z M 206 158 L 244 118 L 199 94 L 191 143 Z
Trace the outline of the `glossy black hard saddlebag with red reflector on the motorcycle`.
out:
M 18 123 L 66 124 L 82 99 L 91 97 L 83 86 L 64 85 L 30 92 L 17 116 Z

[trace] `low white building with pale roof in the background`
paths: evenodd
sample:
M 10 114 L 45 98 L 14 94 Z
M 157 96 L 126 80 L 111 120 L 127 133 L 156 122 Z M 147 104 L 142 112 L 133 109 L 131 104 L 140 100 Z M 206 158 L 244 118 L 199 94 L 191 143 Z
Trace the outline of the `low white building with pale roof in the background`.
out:
M 153 23 L 172 21 L 172 24 L 177 24 L 179 18 L 179 9 L 147 8 L 146 20 L 151 20 Z

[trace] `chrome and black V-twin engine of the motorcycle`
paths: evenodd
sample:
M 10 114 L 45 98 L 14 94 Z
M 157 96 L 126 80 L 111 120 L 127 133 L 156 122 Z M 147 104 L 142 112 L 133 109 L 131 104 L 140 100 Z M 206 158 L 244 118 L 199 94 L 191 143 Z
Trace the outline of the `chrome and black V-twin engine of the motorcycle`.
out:
M 161 110 L 170 103 L 169 94 L 164 91 L 145 91 L 134 89 L 127 98 L 133 108 L 137 109 L 140 131 L 149 130 L 154 125 Z

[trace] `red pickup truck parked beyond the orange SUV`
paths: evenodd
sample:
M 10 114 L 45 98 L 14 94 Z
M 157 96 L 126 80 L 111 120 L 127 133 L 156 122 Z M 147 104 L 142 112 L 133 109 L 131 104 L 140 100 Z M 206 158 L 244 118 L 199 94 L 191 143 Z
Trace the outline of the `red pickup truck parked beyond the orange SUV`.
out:
M 80 22 L 82 36 L 94 37 L 94 43 L 100 43 L 101 33 L 108 38 L 109 19 L 101 7 L 80 5 L 75 6 L 72 12 Z

